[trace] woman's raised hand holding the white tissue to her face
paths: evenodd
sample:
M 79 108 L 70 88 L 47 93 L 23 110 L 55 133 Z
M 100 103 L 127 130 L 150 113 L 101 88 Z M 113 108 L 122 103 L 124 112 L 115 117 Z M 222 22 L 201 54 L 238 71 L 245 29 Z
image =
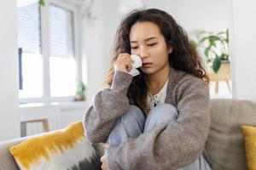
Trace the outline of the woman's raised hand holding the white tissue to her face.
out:
M 130 54 L 119 54 L 118 58 L 113 64 L 115 71 L 130 72 L 132 68 L 132 60 Z

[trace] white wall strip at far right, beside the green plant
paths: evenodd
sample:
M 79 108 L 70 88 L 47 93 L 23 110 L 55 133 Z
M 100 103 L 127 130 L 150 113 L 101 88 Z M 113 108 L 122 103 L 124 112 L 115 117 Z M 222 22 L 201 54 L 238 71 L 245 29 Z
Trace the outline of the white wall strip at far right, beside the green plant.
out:
M 235 99 L 256 99 L 256 2 L 233 0 L 230 53 Z

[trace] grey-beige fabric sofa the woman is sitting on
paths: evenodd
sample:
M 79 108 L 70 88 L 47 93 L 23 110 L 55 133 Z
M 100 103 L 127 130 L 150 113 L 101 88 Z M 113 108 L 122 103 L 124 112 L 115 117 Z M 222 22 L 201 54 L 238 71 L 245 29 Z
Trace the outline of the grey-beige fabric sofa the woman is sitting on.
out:
M 211 115 L 211 129 L 205 153 L 212 170 L 247 170 L 240 125 L 256 126 L 256 102 L 212 99 Z M 23 140 L 24 138 L 0 143 L 0 170 L 19 169 L 9 154 L 9 146 Z

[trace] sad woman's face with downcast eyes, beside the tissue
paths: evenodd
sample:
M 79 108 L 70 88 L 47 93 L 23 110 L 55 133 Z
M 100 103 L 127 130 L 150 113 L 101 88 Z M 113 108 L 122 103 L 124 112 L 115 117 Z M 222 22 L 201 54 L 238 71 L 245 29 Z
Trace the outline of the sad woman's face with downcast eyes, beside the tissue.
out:
M 131 26 L 129 37 L 131 54 L 137 54 L 143 59 L 141 69 L 145 74 L 167 71 L 168 54 L 172 52 L 172 48 L 167 48 L 159 26 L 149 21 L 137 22 Z

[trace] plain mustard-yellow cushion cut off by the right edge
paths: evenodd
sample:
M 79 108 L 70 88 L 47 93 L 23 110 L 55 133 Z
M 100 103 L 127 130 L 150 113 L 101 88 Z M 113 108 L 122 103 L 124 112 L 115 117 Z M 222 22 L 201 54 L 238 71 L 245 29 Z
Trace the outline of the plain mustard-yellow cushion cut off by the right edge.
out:
M 242 125 L 241 133 L 245 141 L 247 166 L 249 170 L 256 169 L 256 127 Z

